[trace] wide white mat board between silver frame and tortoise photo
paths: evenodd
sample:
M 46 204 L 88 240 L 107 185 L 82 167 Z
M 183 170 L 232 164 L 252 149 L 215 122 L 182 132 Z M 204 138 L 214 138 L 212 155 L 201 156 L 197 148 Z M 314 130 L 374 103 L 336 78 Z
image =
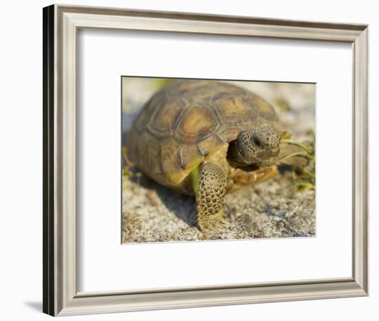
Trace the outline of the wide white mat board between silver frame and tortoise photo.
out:
M 351 276 L 349 44 L 99 30 L 78 44 L 78 291 Z M 121 74 L 317 83 L 317 237 L 121 246 Z

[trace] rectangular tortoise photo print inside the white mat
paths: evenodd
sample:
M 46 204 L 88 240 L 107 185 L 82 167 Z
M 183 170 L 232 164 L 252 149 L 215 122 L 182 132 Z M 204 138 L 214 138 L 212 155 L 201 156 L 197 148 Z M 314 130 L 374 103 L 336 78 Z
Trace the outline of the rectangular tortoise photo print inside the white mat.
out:
M 316 84 L 123 76 L 122 94 L 123 243 L 316 236 Z

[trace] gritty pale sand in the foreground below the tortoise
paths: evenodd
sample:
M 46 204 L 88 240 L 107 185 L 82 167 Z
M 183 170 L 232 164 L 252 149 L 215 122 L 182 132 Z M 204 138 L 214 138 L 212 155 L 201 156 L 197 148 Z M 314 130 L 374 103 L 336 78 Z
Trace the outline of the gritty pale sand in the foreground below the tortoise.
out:
M 195 200 L 149 178 L 123 183 L 123 242 L 315 236 L 314 191 L 298 193 L 278 177 L 225 199 L 229 225 L 204 236 L 196 227 Z

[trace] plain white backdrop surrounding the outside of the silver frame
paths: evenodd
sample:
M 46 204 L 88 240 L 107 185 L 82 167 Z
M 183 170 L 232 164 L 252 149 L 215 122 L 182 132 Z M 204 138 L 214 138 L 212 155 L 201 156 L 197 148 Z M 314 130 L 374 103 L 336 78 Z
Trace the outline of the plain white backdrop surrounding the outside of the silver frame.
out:
M 66 1 L 61 1 L 65 3 Z M 371 296 L 234 307 L 72 317 L 76 320 L 376 320 L 379 300 L 379 22 L 375 1 L 76 1 L 96 6 L 212 12 L 258 17 L 370 23 Z M 1 316 L 41 320 L 42 297 L 42 11 L 48 1 L 2 6 L 1 22 Z M 338 165 L 340 159 L 334 160 Z

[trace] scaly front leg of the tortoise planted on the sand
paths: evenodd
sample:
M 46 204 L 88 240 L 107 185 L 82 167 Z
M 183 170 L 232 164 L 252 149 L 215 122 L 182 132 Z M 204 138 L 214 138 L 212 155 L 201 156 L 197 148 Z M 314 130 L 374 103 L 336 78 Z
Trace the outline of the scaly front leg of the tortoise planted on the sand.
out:
M 196 219 L 201 231 L 206 233 L 224 222 L 227 177 L 223 167 L 215 163 L 203 163 L 199 168 L 197 187 L 194 187 Z

